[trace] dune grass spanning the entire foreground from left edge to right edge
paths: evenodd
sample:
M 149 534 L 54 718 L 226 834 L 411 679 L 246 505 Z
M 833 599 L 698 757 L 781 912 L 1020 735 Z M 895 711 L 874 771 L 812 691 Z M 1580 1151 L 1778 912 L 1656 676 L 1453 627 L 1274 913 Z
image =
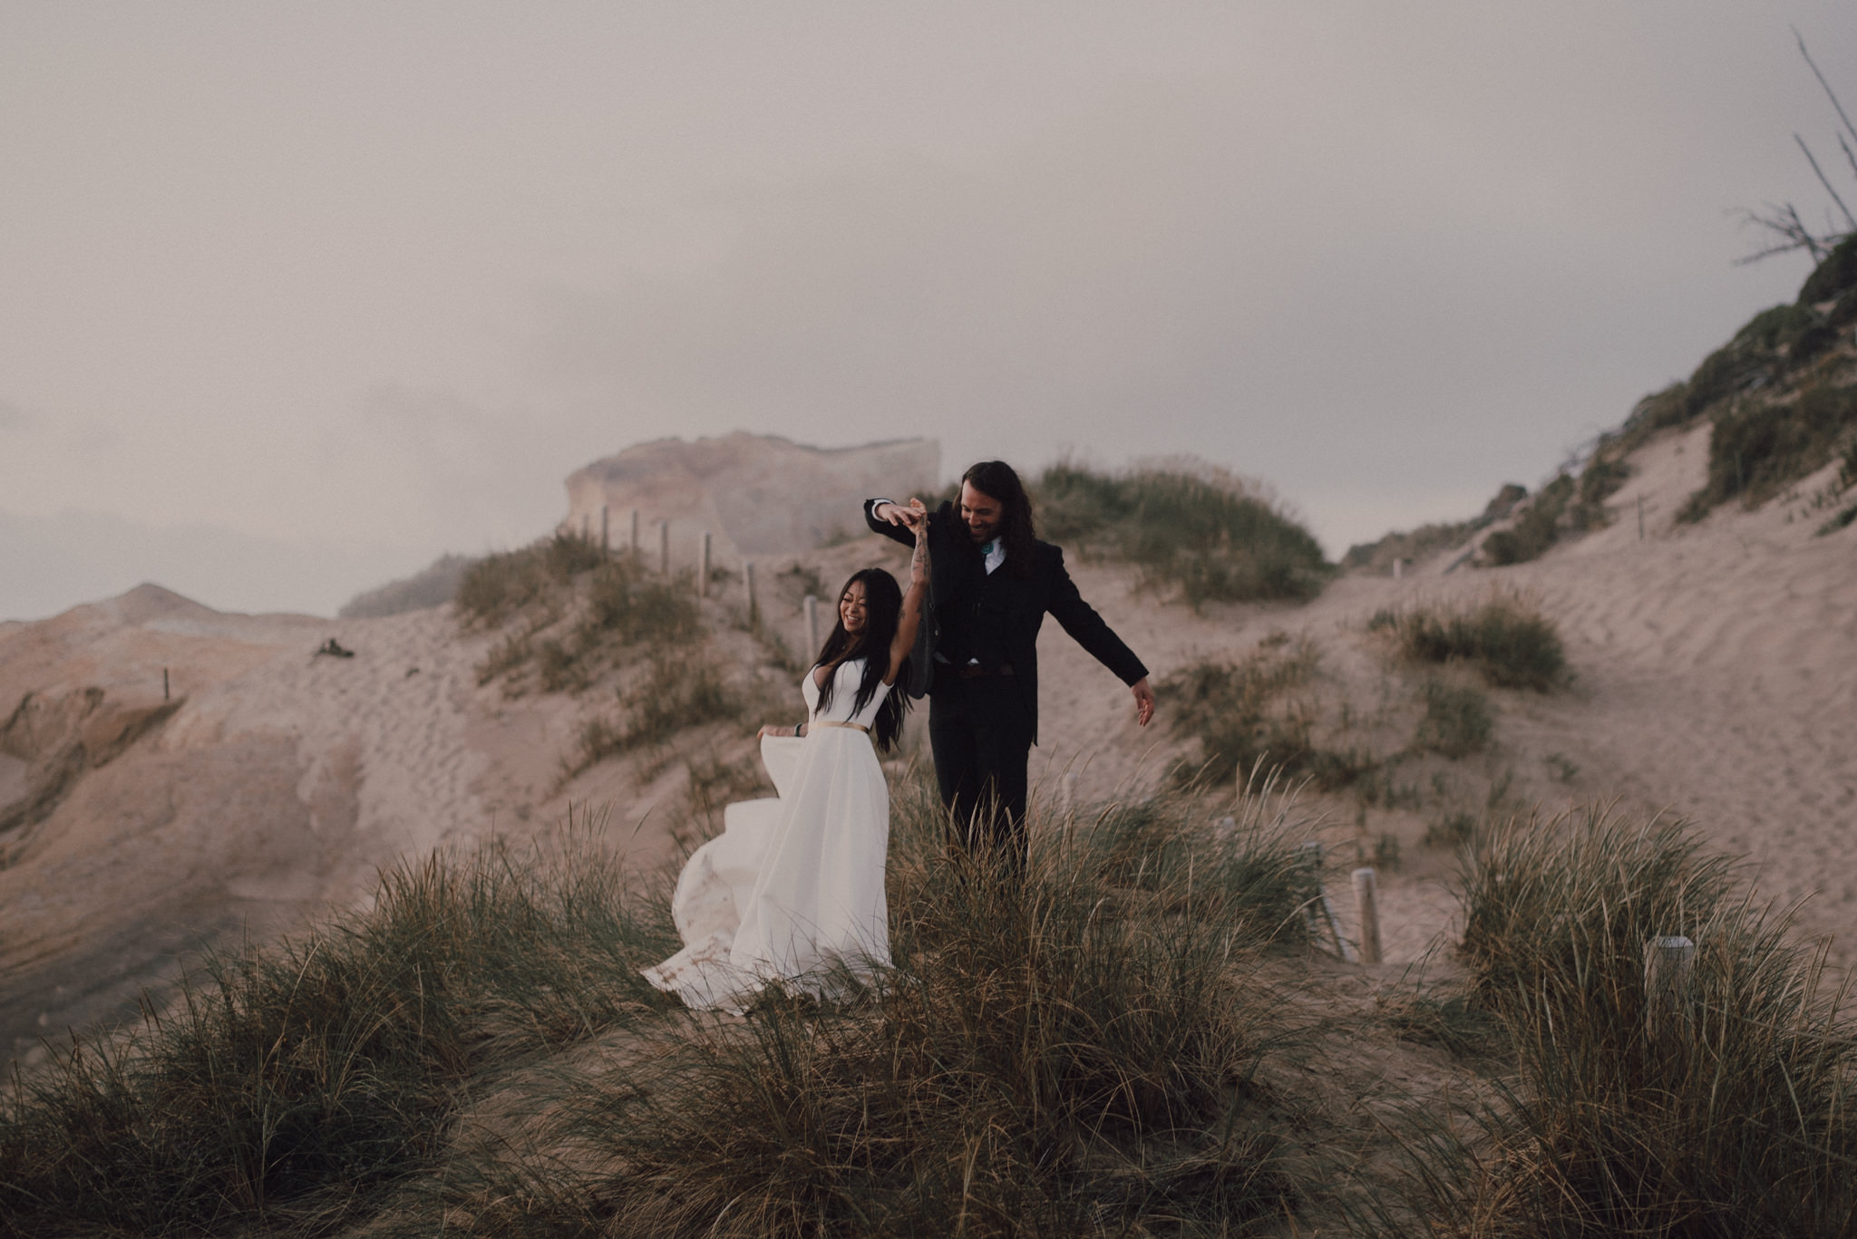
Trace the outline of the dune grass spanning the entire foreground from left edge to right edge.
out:
M 1307 916 L 1313 823 L 1268 788 L 1040 808 L 1023 882 L 945 860 L 917 771 L 893 795 L 893 966 L 834 999 L 734 1018 L 652 990 L 669 875 L 626 877 L 598 823 L 438 854 L 17 1077 L 0 1233 L 1857 1224 L 1857 1025 L 1677 823 L 1484 834 L 1458 962 L 1348 998 Z M 1647 1025 L 1645 944 L 1673 934 L 1694 973 Z

